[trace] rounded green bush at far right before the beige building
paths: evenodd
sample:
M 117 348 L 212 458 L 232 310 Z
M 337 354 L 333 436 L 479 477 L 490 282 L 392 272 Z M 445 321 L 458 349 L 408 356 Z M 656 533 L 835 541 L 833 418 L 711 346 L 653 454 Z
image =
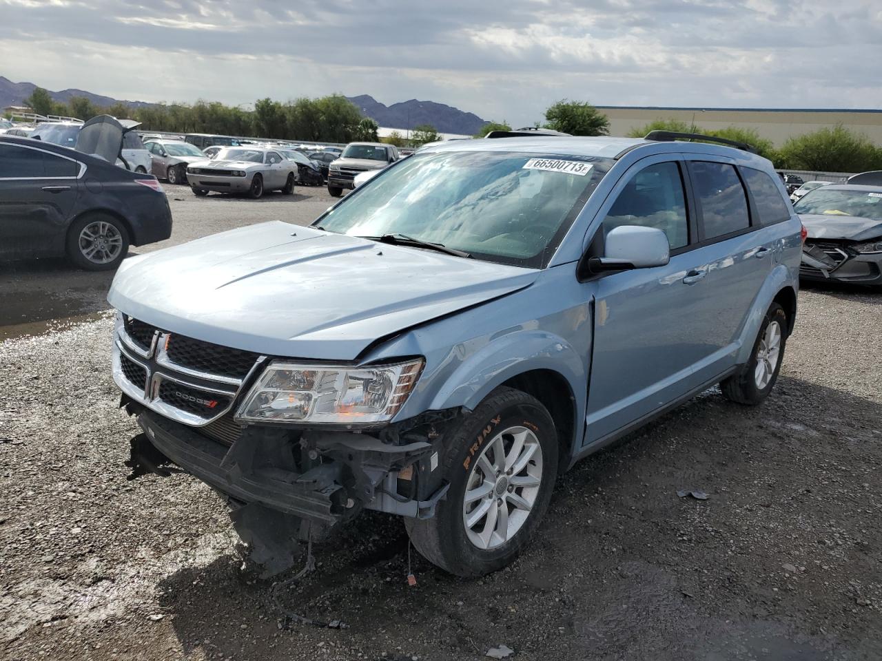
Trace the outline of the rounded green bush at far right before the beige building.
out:
M 780 162 L 780 167 L 796 170 L 865 172 L 882 169 L 882 149 L 863 133 L 838 124 L 788 138 Z

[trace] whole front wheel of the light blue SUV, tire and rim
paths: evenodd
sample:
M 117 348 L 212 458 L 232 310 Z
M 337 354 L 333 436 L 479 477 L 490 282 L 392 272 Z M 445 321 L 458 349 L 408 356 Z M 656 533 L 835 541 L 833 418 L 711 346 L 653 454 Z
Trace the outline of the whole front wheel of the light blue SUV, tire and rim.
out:
M 557 477 L 549 412 L 520 390 L 498 388 L 451 432 L 450 489 L 430 519 L 405 519 L 426 560 L 456 576 L 505 567 L 548 509 Z

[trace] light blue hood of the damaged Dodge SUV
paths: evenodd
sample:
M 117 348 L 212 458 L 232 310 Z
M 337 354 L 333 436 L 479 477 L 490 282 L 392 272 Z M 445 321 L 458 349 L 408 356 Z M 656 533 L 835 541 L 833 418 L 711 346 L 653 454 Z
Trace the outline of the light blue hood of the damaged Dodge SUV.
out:
M 219 345 L 355 360 L 378 338 L 527 287 L 539 273 L 276 220 L 130 257 L 108 301 Z

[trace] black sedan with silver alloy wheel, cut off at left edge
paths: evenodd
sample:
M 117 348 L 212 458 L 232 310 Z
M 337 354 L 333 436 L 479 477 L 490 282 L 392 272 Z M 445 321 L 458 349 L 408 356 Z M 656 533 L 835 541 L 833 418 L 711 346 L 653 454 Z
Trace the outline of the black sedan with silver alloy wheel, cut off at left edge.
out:
M 104 131 L 83 153 L 0 135 L 0 259 L 67 255 L 106 271 L 130 245 L 168 239 L 171 210 L 160 183 L 116 167 L 119 149 L 106 138 Z

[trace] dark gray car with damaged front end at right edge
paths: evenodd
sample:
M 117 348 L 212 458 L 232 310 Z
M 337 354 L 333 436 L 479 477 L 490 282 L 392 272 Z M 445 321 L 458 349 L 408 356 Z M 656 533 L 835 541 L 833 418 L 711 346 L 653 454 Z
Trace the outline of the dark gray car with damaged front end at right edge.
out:
M 882 286 L 882 186 L 825 186 L 794 209 L 808 232 L 801 278 Z

